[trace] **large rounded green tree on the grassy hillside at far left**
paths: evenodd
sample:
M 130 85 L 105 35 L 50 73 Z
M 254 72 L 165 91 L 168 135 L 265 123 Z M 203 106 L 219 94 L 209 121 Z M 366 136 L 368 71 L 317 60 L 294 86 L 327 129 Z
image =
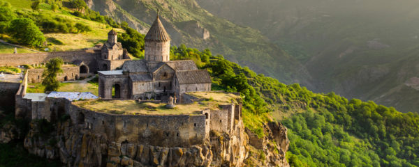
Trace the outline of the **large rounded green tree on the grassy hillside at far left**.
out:
M 24 45 L 38 47 L 45 42 L 43 33 L 31 19 L 13 19 L 10 23 L 8 33 Z

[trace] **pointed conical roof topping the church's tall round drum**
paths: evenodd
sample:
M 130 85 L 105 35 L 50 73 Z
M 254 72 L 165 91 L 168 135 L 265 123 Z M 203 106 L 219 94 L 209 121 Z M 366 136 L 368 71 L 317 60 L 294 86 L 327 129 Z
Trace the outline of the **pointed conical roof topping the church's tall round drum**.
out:
M 170 40 L 169 34 L 164 29 L 163 24 L 160 22 L 159 15 L 157 15 L 156 20 L 150 27 L 147 35 L 145 35 L 145 40 L 155 40 L 155 41 L 168 41 Z

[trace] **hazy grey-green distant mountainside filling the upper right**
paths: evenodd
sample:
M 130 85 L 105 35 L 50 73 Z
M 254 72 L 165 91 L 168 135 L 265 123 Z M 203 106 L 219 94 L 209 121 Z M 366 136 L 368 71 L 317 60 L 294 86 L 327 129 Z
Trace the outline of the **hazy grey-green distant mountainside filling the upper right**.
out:
M 419 72 L 419 1 L 198 0 L 236 24 L 260 30 L 307 68 L 317 92 L 418 109 L 404 86 Z M 235 6 L 235 8 L 230 8 Z M 306 82 L 309 82 L 306 81 Z M 413 96 L 412 96 L 413 95 Z M 405 97 L 409 102 L 399 102 Z

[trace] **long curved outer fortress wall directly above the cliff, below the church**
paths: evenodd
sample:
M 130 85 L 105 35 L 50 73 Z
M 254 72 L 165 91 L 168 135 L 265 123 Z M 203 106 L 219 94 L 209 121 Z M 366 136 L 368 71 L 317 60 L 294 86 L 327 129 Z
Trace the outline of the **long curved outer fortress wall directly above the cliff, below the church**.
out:
M 67 113 L 74 124 L 105 134 L 110 141 L 162 147 L 203 144 L 209 130 L 205 115 L 133 116 L 98 113 L 70 105 Z M 80 113 L 84 120 L 80 122 Z

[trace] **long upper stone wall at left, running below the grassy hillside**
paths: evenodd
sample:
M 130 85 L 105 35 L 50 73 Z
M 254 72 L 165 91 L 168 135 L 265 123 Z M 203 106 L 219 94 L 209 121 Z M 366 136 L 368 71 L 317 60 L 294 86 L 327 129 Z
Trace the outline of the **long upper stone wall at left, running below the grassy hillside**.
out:
M 83 61 L 86 65 L 89 66 L 91 72 L 96 72 L 96 58 L 99 58 L 100 56 L 100 50 L 57 51 L 29 54 L 0 54 L 0 65 L 31 65 L 46 63 L 51 58 L 60 57 L 64 62 L 73 62 L 75 60 Z

